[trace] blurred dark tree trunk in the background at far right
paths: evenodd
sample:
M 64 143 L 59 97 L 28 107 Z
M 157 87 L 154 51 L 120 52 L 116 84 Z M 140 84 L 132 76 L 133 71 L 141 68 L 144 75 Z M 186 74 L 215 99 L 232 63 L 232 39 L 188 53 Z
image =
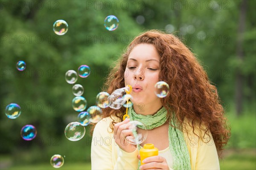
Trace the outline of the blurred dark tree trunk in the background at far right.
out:
M 237 40 L 237 50 L 236 54 L 239 61 L 243 61 L 243 34 L 245 27 L 245 15 L 247 8 L 247 0 L 243 0 L 240 6 L 240 15 L 239 15 L 239 26 L 238 26 L 238 40 Z M 236 115 L 239 116 L 242 113 L 242 102 L 243 102 L 243 75 L 241 74 L 241 69 L 239 68 L 236 73 Z

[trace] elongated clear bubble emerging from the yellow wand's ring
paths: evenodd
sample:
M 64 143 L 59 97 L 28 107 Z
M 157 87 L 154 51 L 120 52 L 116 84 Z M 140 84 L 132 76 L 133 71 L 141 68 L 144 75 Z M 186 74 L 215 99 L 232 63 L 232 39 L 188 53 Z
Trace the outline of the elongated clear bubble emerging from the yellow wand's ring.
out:
M 112 109 L 120 109 L 123 104 L 125 104 L 126 99 L 123 96 L 126 94 L 125 91 L 129 91 L 130 88 L 119 88 L 113 91 L 113 93 L 108 96 L 109 107 Z

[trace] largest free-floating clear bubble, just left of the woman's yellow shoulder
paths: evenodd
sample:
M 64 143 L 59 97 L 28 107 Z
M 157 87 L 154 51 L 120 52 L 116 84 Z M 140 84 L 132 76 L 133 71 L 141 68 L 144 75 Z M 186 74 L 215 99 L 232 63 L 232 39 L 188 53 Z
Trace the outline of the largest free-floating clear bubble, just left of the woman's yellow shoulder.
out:
M 65 136 L 70 141 L 78 141 L 84 137 L 85 128 L 79 122 L 71 122 L 65 128 Z

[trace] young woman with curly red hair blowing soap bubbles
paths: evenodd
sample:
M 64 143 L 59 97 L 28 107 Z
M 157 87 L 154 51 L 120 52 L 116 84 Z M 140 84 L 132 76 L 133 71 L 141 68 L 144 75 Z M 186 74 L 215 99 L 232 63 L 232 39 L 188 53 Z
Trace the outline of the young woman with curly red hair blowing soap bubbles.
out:
M 165 98 L 154 94 L 164 81 Z M 148 136 L 140 145 L 127 142 L 130 119 L 122 121 L 125 108 L 103 109 L 103 119 L 93 127 L 92 169 L 219 169 L 218 157 L 227 144 L 224 109 L 217 89 L 195 56 L 176 36 L 147 31 L 136 37 L 116 64 L 105 84 L 111 94 L 132 86 L 128 114 L 143 122 Z M 159 150 L 140 165 L 139 149 L 151 143 Z

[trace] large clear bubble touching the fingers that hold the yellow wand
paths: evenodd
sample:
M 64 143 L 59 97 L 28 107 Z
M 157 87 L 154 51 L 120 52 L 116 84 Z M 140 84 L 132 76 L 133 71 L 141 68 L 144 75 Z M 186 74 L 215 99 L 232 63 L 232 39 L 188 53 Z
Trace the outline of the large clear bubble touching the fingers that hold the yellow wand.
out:
M 148 136 L 148 130 L 142 122 L 136 120 L 128 122 L 125 128 L 130 129 L 133 133 L 132 136 L 126 137 L 126 139 L 128 139 L 131 144 L 141 144 Z

